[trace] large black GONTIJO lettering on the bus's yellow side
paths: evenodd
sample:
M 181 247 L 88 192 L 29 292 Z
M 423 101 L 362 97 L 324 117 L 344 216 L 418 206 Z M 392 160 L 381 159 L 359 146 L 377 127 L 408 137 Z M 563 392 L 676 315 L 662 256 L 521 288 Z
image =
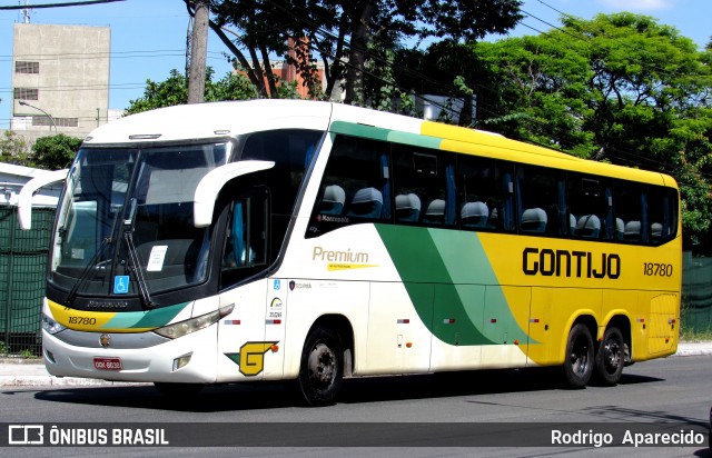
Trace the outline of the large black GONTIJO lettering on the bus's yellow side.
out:
M 524 275 L 543 277 L 610 278 L 621 276 L 621 257 L 615 253 L 524 248 Z

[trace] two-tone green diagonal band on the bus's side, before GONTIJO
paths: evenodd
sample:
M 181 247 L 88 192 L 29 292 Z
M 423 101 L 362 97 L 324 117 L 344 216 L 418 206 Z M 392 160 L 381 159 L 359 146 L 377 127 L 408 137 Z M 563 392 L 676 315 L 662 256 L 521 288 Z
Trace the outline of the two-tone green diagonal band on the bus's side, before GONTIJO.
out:
M 451 345 L 528 341 L 475 232 L 376 225 L 424 325 Z M 425 283 L 432 288 L 423 288 Z M 487 297 L 485 317 L 485 295 Z M 496 317 L 496 326 L 488 321 Z M 530 342 L 533 344 L 533 342 Z

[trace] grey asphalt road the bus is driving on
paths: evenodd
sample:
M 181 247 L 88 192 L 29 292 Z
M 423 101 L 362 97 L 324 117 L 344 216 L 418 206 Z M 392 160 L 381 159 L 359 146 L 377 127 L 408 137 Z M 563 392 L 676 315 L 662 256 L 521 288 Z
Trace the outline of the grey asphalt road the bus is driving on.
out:
M 593 442 L 596 437 L 605 440 L 612 429 L 630 430 L 631 435 L 641 428 L 641 434 L 650 432 L 645 425 L 650 422 L 666 422 L 675 434 L 706 431 L 712 406 L 710 374 L 712 358 L 702 356 L 640 362 L 625 369 L 616 387 L 583 390 L 568 390 L 557 381 L 555 371 L 540 369 L 353 379 L 346 381 L 338 402 L 325 408 L 301 407 L 283 384 L 210 387 L 192 399 L 168 399 L 151 386 L 33 387 L 0 391 L 0 422 L 4 429 L 8 425 L 43 425 L 46 437 L 51 426 L 93 428 L 95 432 L 105 429 L 109 436 L 122 427 L 167 429 L 171 442 L 159 448 L 108 445 L 4 449 L 10 451 L 7 456 L 28 457 L 56 457 L 57 452 L 92 457 L 386 452 L 403 457 L 708 457 L 706 432 L 704 444 L 672 447 L 599 448 Z M 428 425 L 433 422 L 436 425 Z M 548 446 L 552 429 L 564 431 L 563 438 L 570 438 L 570 444 Z M 565 436 L 573 434 L 566 431 L 582 435 Z M 3 432 L 0 430 L 0 435 Z M 589 444 L 574 446 L 571 440 L 575 437 Z M 691 432 L 689 437 L 694 436 Z M 522 447 L 532 440 L 542 446 Z M 259 447 L 202 447 L 245 442 Z M 492 447 L 464 447 L 473 442 Z M 619 444 L 617 436 L 614 444 Z

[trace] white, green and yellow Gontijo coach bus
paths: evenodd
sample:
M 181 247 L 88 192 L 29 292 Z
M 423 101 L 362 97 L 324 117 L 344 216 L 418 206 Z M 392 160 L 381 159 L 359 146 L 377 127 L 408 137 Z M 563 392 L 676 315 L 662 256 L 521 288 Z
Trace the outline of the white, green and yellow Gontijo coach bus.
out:
M 50 374 L 155 382 L 561 367 L 675 352 L 665 175 L 338 103 L 179 106 L 96 129 L 67 173 Z M 26 192 L 27 195 L 27 192 Z

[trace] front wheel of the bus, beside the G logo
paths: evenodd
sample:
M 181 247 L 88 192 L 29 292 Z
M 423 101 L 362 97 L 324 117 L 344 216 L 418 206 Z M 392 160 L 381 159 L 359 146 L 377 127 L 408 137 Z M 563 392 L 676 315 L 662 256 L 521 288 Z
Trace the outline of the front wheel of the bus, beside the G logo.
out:
M 344 350 L 339 336 L 327 328 L 312 331 L 301 351 L 297 385 L 308 406 L 334 404 L 344 379 Z

